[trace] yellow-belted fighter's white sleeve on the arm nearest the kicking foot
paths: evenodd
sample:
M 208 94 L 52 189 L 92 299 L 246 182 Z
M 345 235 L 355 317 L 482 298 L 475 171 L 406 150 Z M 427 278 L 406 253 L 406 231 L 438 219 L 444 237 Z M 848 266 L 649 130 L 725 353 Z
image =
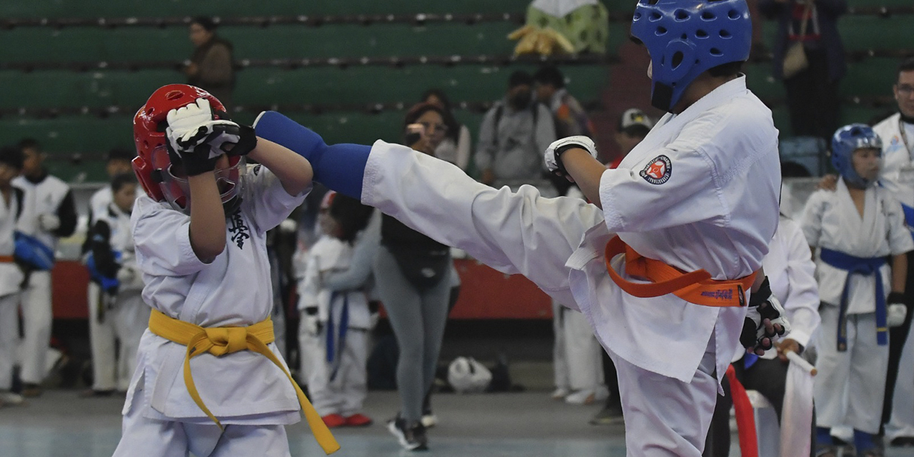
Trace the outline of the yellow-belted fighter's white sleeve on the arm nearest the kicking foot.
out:
M 263 233 L 288 218 L 309 192 L 310 186 L 301 194 L 291 196 L 282 187 L 282 181 L 266 166 L 253 165 L 245 176 L 241 207 L 251 215 L 254 224 Z

